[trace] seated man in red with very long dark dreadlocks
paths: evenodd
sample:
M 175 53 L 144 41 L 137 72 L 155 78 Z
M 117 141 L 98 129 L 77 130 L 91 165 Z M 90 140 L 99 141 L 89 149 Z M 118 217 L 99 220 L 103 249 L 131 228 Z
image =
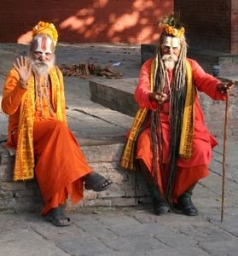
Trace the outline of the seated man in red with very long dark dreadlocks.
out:
M 224 101 L 234 81 L 221 83 L 188 59 L 184 28 L 171 13 L 154 58 L 142 65 L 135 90 L 136 113 L 121 166 L 139 168 L 148 183 L 154 212 L 198 215 L 191 201 L 195 184 L 208 175 L 212 148 L 218 143 L 204 125 L 197 90 Z

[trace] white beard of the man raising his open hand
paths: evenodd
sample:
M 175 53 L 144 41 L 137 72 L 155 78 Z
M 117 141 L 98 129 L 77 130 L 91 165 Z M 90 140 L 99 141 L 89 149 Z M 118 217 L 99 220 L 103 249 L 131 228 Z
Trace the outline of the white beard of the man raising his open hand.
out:
M 30 57 L 30 63 L 32 64 L 32 71 L 34 73 L 37 73 L 39 77 L 47 77 L 49 70 L 55 65 L 55 55 L 52 56 L 50 61 L 33 60 Z

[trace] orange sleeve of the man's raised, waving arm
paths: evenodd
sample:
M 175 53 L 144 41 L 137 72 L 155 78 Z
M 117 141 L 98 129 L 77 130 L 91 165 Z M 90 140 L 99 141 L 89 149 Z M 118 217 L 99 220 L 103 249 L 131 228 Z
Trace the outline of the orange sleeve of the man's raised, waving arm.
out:
M 2 109 L 4 113 L 9 115 L 17 111 L 20 107 L 22 96 L 26 93 L 26 90 L 17 85 L 19 79 L 17 71 L 15 68 L 12 68 L 7 75 L 3 87 Z

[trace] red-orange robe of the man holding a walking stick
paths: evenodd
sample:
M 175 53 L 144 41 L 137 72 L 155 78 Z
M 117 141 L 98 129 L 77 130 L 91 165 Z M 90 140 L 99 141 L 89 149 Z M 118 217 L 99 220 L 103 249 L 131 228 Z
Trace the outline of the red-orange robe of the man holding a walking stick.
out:
M 203 69 L 197 64 L 196 61 L 188 59 L 194 77 L 194 84 L 197 90 L 203 91 L 206 95 L 210 96 L 213 100 L 225 100 L 225 96 L 218 91 L 217 85 L 220 83 L 217 79 L 214 79 L 211 75 L 205 73 Z M 156 102 L 150 102 L 148 95 L 150 94 L 150 65 L 152 59 L 146 61 L 141 69 L 138 85 L 135 90 L 136 102 L 142 108 L 148 108 L 151 110 L 157 109 Z M 172 72 L 169 72 L 169 81 L 172 80 Z M 167 88 L 167 90 L 169 90 Z M 166 93 L 168 93 L 167 91 Z M 170 102 L 163 103 L 165 112 L 169 112 Z M 164 111 L 160 112 L 160 120 L 162 125 L 162 133 L 164 138 L 164 152 L 163 152 L 163 164 L 164 172 L 168 172 L 168 158 L 169 158 L 169 140 L 170 140 L 170 124 L 168 114 Z M 150 120 L 148 119 L 147 128 L 142 132 L 138 138 L 136 148 L 136 159 L 142 159 L 148 170 L 152 172 L 152 152 L 150 148 Z M 190 160 L 184 160 L 179 158 L 177 161 L 177 180 L 174 189 L 174 195 L 172 201 L 176 201 L 176 198 L 184 193 L 193 183 L 199 181 L 201 178 L 208 176 L 207 165 L 212 159 L 212 148 L 217 145 L 217 141 L 207 130 L 204 116 L 200 108 L 200 102 L 195 94 L 195 124 L 194 124 L 194 138 L 193 138 L 193 156 Z M 166 176 L 165 176 L 166 177 Z M 161 178 L 158 175 L 158 184 L 163 194 L 161 187 Z

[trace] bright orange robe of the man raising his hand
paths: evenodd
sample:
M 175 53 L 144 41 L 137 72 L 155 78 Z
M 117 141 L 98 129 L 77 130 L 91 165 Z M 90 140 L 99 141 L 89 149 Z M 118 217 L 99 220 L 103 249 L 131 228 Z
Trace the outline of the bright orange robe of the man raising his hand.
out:
M 4 113 L 9 114 L 7 148 L 16 147 L 20 102 L 26 93 L 26 90 L 17 85 L 18 80 L 19 75 L 13 68 L 9 71 L 3 88 L 2 108 Z M 61 73 L 60 80 L 63 80 Z M 37 163 L 35 174 L 45 201 L 42 215 L 47 214 L 51 208 L 65 203 L 67 195 L 71 197 L 73 204 L 78 203 L 84 195 L 84 175 L 92 172 L 77 139 L 67 128 L 63 84 L 60 86 L 63 121 L 55 119 L 50 114 L 45 96 L 42 98 L 41 106 L 47 120 L 42 116 L 39 97 L 34 112 L 33 147 Z M 51 96 L 49 87 L 50 100 L 52 100 Z

